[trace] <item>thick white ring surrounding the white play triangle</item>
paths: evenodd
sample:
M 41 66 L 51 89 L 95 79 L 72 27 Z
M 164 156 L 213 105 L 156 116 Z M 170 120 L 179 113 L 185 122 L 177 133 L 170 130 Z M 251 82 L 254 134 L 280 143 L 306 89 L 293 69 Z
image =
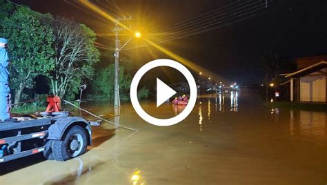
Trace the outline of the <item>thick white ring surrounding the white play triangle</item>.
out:
M 139 81 L 141 80 L 143 75 L 146 74 L 146 72 L 148 72 L 152 68 L 156 68 L 159 66 L 168 66 L 171 68 L 175 68 L 176 70 L 181 72 L 184 77 L 186 77 L 188 85 L 190 86 L 190 99 L 188 101 L 188 105 L 181 113 L 179 113 L 179 115 L 168 119 L 159 119 L 148 115 L 148 113 L 146 113 L 146 111 L 144 111 L 141 105 L 139 104 L 139 99 L 137 99 L 137 86 L 139 86 Z M 130 84 L 130 101 L 132 101 L 132 106 L 137 112 L 137 114 L 148 123 L 156 126 L 171 126 L 174 124 L 178 124 L 180 121 L 188 117 L 188 115 L 192 112 L 192 109 L 194 108 L 195 103 L 197 101 L 197 84 L 195 83 L 195 79 L 190 73 L 190 71 L 179 62 L 170 59 L 157 59 L 154 61 L 150 61 L 148 64 L 142 66 L 135 74 L 134 78 L 132 79 L 132 84 Z

